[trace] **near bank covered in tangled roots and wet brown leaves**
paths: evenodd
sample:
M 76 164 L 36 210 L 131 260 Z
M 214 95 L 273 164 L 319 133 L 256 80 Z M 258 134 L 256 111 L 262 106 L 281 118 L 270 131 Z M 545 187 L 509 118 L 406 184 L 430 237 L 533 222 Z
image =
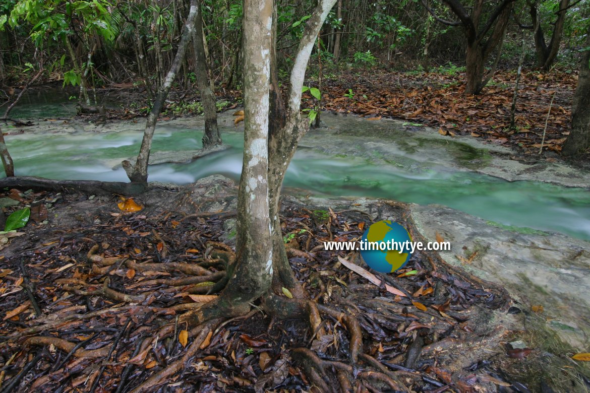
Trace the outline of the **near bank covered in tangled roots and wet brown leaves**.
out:
M 401 203 L 283 203 L 291 267 L 322 311 L 320 332 L 257 305 L 210 330 L 179 326 L 179 314 L 215 296 L 207 291 L 224 269 L 216 252 L 233 255 L 236 193 L 220 176 L 152 187 L 134 202 L 3 191 L 12 209 L 28 204 L 32 213 L 0 256 L 2 392 L 128 392 L 168 369 L 176 372 L 140 391 L 573 392 L 590 384 L 570 359 L 522 346 L 516 321 L 527 312 L 499 286 L 428 253 L 372 283 L 339 259 L 362 266 L 358 255 L 323 250 L 322 241 L 358 239 L 382 217 L 419 239 Z M 362 332 L 356 362 L 347 316 Z

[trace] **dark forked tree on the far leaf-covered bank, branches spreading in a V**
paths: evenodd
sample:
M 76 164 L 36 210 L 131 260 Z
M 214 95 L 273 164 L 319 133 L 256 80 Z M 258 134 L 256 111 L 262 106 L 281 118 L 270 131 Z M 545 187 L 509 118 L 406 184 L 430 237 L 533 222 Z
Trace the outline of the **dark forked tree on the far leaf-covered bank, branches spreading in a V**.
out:
M 457 16 L 458 21 L 448 21 L 422 0 L 422 5 L 438 22 L 448 26 L 461 26 L 467 40 L 466 94 L 479 94 L 496 71 L 506 27 L 510 21 L 512 5 L 515 0 L 476 0 L 473 6 L 461 4 L 458 0 L 442 0 L 448 9 Z M 486 74 L 486 64 L 494 49 L 496 60 Z

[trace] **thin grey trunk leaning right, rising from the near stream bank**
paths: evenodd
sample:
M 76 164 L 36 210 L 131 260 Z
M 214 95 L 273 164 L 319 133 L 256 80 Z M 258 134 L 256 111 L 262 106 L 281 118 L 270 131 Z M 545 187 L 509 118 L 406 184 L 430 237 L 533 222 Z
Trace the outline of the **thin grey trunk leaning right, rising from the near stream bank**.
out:
M 127 177 L 129 177 L 129 180 L 131 180 L 133 183 L 148 183 L 149 153 L 150 149 L 152 148 L 152 138 L 153 133 L 156 130 L 156 122 L 158 121 L 158 116 L 162 111 L 164 101 L 166 100 L 166 97 L 168 97 L 168 92 L 170 91 L 172 82 L 176 78 L 176 72 L 178 72 L 182 61 L 185 58 L 186 47 L 188 47 L 188 43 L 191 41 L 195 30 L 195 18 L 198 14 L 197 10 L 198 6 L 196 0 L 191 0 L 191 8 L 188 17 L 186 18 L 181 42 L 178 44 L 178 51 L 176 51 L 174 61 L 172 62 L 170 70 L 166 75 L 166 79 L 158 89 L 156 100 L 154 101 L 152 110 L 148 115 L 146 129 L 143 132 L 142 146 L 139 148 L 139 154 L 137 154 L 135 166 L 132 166 L 132 164 L 127 160 L 123 161 L 122 163 L 123 168 L 127 173 Z

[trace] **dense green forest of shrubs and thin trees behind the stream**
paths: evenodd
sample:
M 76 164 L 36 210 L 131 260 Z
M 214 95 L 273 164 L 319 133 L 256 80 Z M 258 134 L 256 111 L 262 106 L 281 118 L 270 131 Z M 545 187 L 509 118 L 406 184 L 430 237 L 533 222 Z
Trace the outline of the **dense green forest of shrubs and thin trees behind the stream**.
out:
M 516 69 L 524 49 L 526 66 L 579 69 L 590 13 L 587 1 L 463 3 L 339 0 L 320 32 L 308 75 L 317 79 L 320 70 L 329 77 L 333 72 L 371 67 L 465 71 L 474 60 L 466 58 L 468 28 L 456 5 L 472 14 L 477 8 L 477 18 L 471 19 L 479 20 L 473 20 L 473 25 L 488 37 L 483 42 L 487 53 L 476 61 L 487 67 L 497 59 L 499 68 Z M 37 82 L 63 81 L 85 88 L 145 85 L 151 96 L 173 60 L 188 6 L 188 1 L 180 0 L 3 0 L 0 80 L 5 85 L 22 85 L 37 77 Z M 313 6 L 312 1 L 277 5 L 279 70 L 293 63 L 303 22 Z M 215 87 L 239 89 L 241 1 L 208 0 L 201 7 L 211 82 Z M 501 8 L 506 10 L 502 11 L 506 21 L 495 14 Z M 195 83 L 194 61 L 194 56 L 186 57 L 178 87 Z M 279 72 L 280 78 L 286 76 Z

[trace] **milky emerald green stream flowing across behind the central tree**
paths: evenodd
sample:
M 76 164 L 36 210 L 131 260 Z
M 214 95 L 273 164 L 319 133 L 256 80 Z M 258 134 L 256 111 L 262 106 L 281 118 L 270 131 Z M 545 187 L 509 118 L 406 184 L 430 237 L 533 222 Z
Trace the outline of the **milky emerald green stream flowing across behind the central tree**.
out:
M 153 151 L 198 149 L 201 136 L 199 130 L 159 127 Z M 37 134 L 7 136 L 6 142 L 17 176 L 127 181 L 123 169 L 112 168 L 120 160 L 137 154 L 141 137 L 139 132 L 127 131 L 67 136 Z M 226 131 L 222 137 L 232 146 L 230 149 L 189 164 L 150 166 L 149 180 L 187 184 L 211 174 L 238 180 L 243 134 Z M 317 138 L 322 138 L 322 134 L 310 133 L 303 138 L 284 186 L 309 190 L 315 196 L 366 196 L 419 204 L 438 203 L 504 225 L 562 232 L 590 240 L 588 190 L 533 181 L 509 183 L 452 169 L 437 161 L 437 155 L 451 154 L 441 150 L 444 148 L 441 146 L 433 146 L 432 154 L 415 154 L 411 146 L 381 146 L 376 142 L 373 146 L 369 140 L 373 153 L 366 157 L 366 154 L 347 152 L 347 149 L 355 150 L 355 146 L 335 146 L 329 140 L 326 146 L 340 147 L 343 154 L 305 147 Z M 422 142 L 414 141 L 414 144 L 419 143 Z M 384 156 L 380 151 L 387 154 Z M 457 154 L 457 160 L 467 160 L 474 166 L 486 160 L 484 153 L 463 146 L 455 148 L 453 154 Z

